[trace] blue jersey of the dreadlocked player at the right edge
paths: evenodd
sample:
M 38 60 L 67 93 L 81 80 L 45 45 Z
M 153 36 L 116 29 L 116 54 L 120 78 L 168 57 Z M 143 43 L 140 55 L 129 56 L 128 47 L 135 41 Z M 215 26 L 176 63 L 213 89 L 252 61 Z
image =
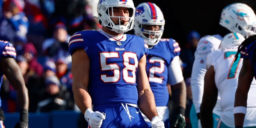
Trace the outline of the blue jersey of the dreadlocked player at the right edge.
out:
M 254 49 L 256 49 L 256 45 L 254 45 L 256 43 L 256 41 L 250 43 L 248 46 L 246 46 L 246 48 L 244 48 L 243 50 L 240 51 L 241 54 L 241 58 L 245 58 L 245 59 L 250 59 L 250 63 L 254 64 L 253 69 L 254 69 L 254 78 L 256 79 L 256 64 L 254 62 L 255 58 L 253 58 L 253 55 L 255 54 Z M 252 49 L 248 52 L 249 49 Z M 248 53 L 247 53 L 248 52 Z M 247 54 L 246 54 L 247 53 Z M 252 61 L 253 60 L 253 61 Z

